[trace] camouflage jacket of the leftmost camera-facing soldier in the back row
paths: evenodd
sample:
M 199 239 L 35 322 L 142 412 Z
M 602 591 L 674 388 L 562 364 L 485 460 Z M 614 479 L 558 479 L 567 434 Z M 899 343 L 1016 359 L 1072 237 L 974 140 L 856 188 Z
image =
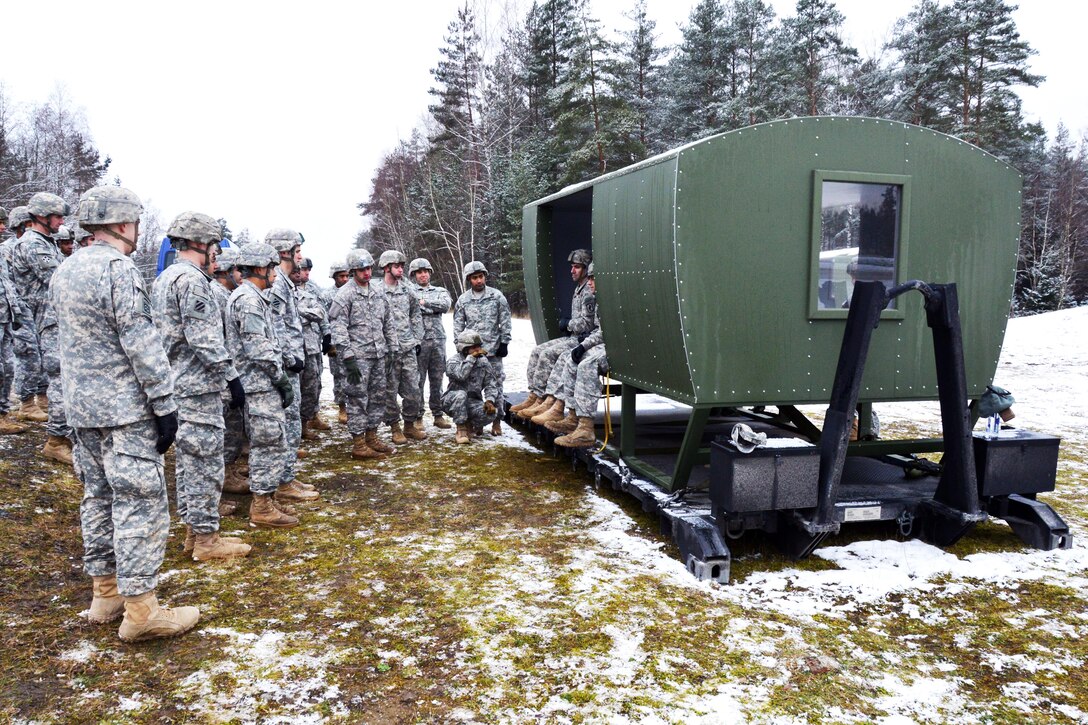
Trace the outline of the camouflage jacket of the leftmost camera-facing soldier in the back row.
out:
M 339 288 L 329 309 L 333 344 L 344 361 L 356 357 L 384 358 L 396 349 L 388 297 L 374 292 L 379 283 L 361 286 L 355 280 Z

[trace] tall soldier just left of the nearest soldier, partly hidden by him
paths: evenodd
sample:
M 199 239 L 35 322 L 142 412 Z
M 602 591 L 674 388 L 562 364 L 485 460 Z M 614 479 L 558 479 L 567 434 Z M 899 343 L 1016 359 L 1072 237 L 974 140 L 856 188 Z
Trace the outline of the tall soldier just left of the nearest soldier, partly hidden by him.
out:
M 38 192 L 26 205 L 30 214 L 29 228 L 18 241 L 12 254 L 12 271 L 15 283 L 22 285 L 20 296 L 34 317 L 38 336 L 38 354 L 41 368 L 48 377 L 48 416 L 46 422 L 46 445 L 41 454 L 46 458 L 72 464 L 72 429 L 64 415 L 64 394 L 60 382 L 60 353 L 57 343 L 57 316 L 49 302 L 49 281 L 53 271 L 64 261 L 52 235 L 64 223 L 70 209 L 67 201 L 47 192 Z M 38 402 L 38 407 L 40 407 Z

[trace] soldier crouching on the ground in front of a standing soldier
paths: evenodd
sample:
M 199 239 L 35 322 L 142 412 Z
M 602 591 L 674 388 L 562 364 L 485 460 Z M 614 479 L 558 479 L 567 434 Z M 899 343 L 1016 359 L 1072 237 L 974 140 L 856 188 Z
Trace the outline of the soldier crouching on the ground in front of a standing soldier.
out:
M 498 378 L 475 330 L 458 333 L 455 346 L 457 357 L 446 361 L 449 386 L 442 396 L 442 407 L 457 425 L 456 441 L 468 443 L 473 433 L 483 433 L 483 427 L 495 420 Z

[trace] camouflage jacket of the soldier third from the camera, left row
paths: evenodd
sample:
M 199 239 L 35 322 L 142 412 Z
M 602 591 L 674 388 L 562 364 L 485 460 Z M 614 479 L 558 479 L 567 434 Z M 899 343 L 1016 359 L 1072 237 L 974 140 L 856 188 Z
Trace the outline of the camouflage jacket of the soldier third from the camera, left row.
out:
M 283 376 L 283 356 L 276 346 L 275 320 L 264 295 L 248 280 L 226 303 L 226 349 L 242 374 L 247 393 L 272 390 Z

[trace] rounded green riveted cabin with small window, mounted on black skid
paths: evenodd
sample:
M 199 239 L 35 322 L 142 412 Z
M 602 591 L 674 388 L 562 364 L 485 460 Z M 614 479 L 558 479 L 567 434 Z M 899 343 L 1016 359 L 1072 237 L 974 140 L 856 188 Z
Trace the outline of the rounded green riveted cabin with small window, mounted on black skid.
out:
M 591 247 L 614 378 L 701 408 L 825 403 L 854 280 L 954 282 L 977 396 L 1009 318 L 1021 182 L 975 146 L 900 122 L 712 136 L 524 207 L 533 330 L 558 335 L 567 255 Z M 923 299 L 897 305 L 861 400 L 937 400 Z

